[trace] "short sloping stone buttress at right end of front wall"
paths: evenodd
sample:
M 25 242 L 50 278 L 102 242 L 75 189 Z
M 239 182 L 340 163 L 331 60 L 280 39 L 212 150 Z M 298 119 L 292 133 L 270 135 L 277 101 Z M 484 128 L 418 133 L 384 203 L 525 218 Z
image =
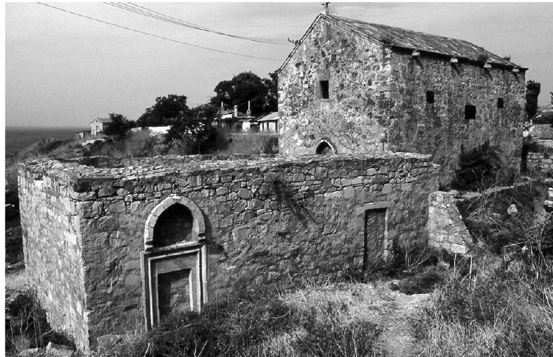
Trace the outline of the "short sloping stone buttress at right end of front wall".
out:
M 428 246 L 464 254 L 472 238 L 455 201 L 454 194 L 449 192 L 428 195 Z

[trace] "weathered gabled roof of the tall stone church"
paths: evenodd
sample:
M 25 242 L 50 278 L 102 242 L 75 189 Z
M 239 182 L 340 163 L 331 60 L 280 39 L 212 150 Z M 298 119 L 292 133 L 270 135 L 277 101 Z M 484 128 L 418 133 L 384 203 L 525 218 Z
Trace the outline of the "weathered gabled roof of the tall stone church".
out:
M 309 29 L 307 29 L 300 41 L 297 42 L 295 48 L 292 52 L 290 52 L 290 55 L 288 55 L 277 72 L 281 71 L 283 67 L 286 66 L 297 48 L 300 47 L 309 32 L 311 32 L 311 29 L 313 29 L 316 23 L 321 19 L 328 20 L 335 25 L 350 29 L 359 36 L 367 38 L 372 42 L 380 45 L 389 45 L 391 48 L 433 53 L 435 55 L 465 59 L 470 62 L 482 62 L 482 58 L 486 58 L 486 62 L 489 64 L 526 70 L 526 68 L 522 68 L 518 64 L 510 62 L 507 59 L 503 59 L 498 55 L 494 55 L 488 50 L 485 50 L 484 48 L 468 41 L 426 34 L 424 32 L 412 31 L 408 29 L 401 29 L 399 27 L 372 24 L 370 22 L 342 18 L 341 16 L 335 15 L 325 15 L 321 13 L 317 16 L 311 26 L 309 26 Z

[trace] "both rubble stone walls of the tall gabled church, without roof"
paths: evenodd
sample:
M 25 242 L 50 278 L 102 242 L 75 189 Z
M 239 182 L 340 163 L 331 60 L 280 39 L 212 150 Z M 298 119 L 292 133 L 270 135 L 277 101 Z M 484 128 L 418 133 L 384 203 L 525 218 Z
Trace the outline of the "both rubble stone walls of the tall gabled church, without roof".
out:
M 329 99 L 320 98 L 320 80 L 328 80 Z M 461 144 L 488 140 L 518 169 L 524 83 L 524 73 L 507 69 L 415 58 L 323 18 L 279 73 L 280 152 L 315 153 L 324 139 L 337 153 L 428 153 L 449 179 Z M 465 104 L 476 106 L 475 120 L 465 120 Z

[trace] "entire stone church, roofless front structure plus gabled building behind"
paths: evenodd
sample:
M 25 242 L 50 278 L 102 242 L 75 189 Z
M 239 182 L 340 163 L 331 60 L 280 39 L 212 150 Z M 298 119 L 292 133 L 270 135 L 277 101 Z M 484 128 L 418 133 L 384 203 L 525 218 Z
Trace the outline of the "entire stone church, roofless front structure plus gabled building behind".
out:
M 279 72 L 279 157 L 20 164 L 29 286 L 87 351 L 233 290 L 381 264 L 428 241 L 461 144 L 519 151 L 524 71 L 465 41 L 318 15 Z

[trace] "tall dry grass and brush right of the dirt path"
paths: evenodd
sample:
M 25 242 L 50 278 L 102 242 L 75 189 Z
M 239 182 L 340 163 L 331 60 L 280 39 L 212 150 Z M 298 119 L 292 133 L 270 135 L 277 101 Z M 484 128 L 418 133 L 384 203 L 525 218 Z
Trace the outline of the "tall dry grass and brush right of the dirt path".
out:
M 415 323 L 420 356 L 553 355 L 553 220 L 512 233 L 501 260 L 475 253 L 455 266 Z

